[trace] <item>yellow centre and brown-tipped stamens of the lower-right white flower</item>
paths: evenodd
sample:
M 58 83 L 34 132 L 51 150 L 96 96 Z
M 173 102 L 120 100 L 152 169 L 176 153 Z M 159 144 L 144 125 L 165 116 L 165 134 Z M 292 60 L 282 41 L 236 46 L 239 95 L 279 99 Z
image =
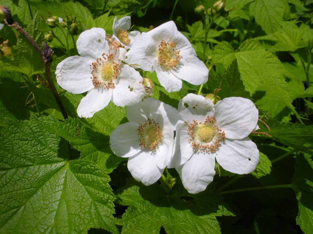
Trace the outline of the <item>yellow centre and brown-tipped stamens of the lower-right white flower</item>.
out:
M 218 150 L 219 142 L 225 139 L 225 133 L 216 126 L 216 121 L 213 117 L 208 116 L 204 123 L 198 123 L 197 120 L 192 120 L 193 123 L 188 126 L 188 133 L 192 144 L 192 149 L 204 152 L 214 152 Z

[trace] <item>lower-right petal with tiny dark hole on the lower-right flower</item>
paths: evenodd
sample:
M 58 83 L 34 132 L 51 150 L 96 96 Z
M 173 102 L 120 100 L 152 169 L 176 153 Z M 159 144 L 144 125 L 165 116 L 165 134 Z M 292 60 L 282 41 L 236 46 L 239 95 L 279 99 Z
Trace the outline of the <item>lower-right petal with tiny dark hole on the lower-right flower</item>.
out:
M 251 173 L 259 163 L 259 150 L 249 137 L 222 140 L 214 155 L 225 170 L 237 174 Z

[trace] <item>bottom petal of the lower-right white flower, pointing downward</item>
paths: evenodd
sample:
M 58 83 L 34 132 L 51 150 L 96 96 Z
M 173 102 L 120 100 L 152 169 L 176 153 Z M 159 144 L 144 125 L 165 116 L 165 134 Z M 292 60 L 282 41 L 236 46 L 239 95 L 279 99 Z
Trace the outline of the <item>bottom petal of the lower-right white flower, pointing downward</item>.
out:
M 183 165 L 176 168 L 182 184 L 189 193 L 200 193 L 213 181 L 215 158 L 212 154 L 197 152 Z

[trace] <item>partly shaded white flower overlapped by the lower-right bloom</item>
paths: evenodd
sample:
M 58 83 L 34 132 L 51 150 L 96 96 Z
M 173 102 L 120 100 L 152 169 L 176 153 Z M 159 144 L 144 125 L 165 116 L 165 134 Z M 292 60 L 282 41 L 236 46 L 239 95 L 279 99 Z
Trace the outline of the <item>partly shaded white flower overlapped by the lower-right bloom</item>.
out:
M 131 175 L 145 185 L 155 183 L 174 153 L 174 130 L 178 112 L 159 100 L 127 106 L 129 123 L 119 125 L 110 135 L 114 154 L 129 158 Z

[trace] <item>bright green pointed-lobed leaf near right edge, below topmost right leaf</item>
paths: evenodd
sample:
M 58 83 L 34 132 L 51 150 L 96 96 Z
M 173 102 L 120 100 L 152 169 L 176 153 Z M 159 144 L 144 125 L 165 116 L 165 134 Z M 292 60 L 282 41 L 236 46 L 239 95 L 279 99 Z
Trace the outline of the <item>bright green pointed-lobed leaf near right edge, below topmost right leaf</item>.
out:
M 295 51 L 299 48 L 308 46 L 304 41 L 305 30 L 298 28 L 291 22 L 284 22 L 283 27 L 272 34 L 256 37 L 254 40 L 275 41 L 275 46 L 269 47 L 270 52 L 274 51 Z

